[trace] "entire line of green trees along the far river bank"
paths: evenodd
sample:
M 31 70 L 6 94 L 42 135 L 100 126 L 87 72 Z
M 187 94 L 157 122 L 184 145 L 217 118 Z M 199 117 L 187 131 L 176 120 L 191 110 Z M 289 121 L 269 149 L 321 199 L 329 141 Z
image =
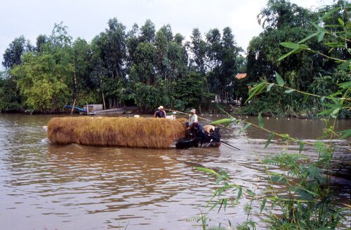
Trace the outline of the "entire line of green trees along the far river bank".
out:
M 2 62 L 5 71 L 0 72 L 0 111 L 58 114 L 66 104 L 103 104 L 104 109 L 135 106 L 138 113 L 151 114 L 160 104 L 178 111 L 217 106 L 230 111 L 230 104 L 240 104 L 239 114 L 315 118 L 328 108 L 328 95 L 350 81 L 350 72 L 336 71 L 335 62 L 349 60 L 350 51 L 341 46 L 350 41 L 339 43 L 320 27 L 328 23 L 337 25 L 334 33 L 349 30 L 347 13 L 326 15 L 344 5 L 347 1 L 336 1 L 312 11 L 267 0 L 258 15 L 263 32 L 251 39 L 247 50 L 237 46 L 230 27 L 204 34 L 194 28 L 187 41 L 169 24 L 157 30 L 146 20 L 127 31 L 112 18 L 105 31 L 86 41 L 73 39 L 60 22 L 34 42 L 20 36 L 9 44 Z M 315 29 L 318 36 L 298 43 Z M 330 48 L 335 43 L 338 47 Z M 303 46 L 308 49 L 296 51 Z M 310 55 L 310 50 L 319 51 Z M 277 58 L 285 53 L 289 55 Z M 272 87 L 276 72 L 286 88 Z M 260 81 L 269 86 L 248 101 Z M 341 109 L 338 117 L 350 114 L 350 109 Z

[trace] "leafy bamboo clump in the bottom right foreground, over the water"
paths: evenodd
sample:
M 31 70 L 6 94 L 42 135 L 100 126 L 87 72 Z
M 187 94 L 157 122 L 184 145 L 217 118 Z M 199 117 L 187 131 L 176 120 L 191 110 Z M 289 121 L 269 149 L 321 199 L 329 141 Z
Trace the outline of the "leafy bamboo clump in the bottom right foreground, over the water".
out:
M 319 146 L 319 160 L 308 163 L 309 160 L 300 154 L 282 153 L 273 158 L 267 158 L 263 163 L 274 165 L 284 170 L 282 173 L 268 172 L 272 182 L 267 192 L 267 198 L 279 205 L 283 218 L 276 219 L 270 215 L 272 228 L 280 229 L 289 226 L 293 229 L 335 229 L 343 222 L 343 209 L 333 203 L 333 193 L 329 185 L 330 178 L 325 177 L 332 160 L 333 149 L 325 144 Z M 298 182 L 293 180 L 298 178 Z M 289 196 L 279 196 L 276 183 L 289 191 Z

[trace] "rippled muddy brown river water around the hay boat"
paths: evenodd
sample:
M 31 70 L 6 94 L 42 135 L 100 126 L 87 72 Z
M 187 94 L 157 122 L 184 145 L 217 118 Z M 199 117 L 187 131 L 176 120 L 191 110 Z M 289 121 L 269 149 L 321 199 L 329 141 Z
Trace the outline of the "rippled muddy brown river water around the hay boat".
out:
M 232 182 L 264 188 L 268 182 L 258 158 L 283 149 L 279 140 L 264 149 L 268 134 L 258 129 L 238 134 L 242 124 L 222 131 L 223 141 L 239 151 L 224 144 L 181 150 L 54 146 L 41 128 L 51 117 L 0 114 L 0 229 L 201 229 L 185 220 L 207 212 L 216 184 L 194 166 L 222 168 Z M 240 119 L 257 123 L 255 117 Z M 351 123 L 338 126 L 351 128 Z M 309 141 L 322 135 L 323 127 L 319 120 L 265 118 L 265 128 Z M 298 146 L 287 148 L 298 151 Z M 312 147 L 305 147 L 305 154 L 316 156 Z M 343 170 L 338 182 L 350 198 L 350 178 L 343 176 L 350 169 Z M 209 224 L 244 221 L 243 205 L 209 212 Z M 256 221 L 264 217 L 259 209 L 253 206 Z

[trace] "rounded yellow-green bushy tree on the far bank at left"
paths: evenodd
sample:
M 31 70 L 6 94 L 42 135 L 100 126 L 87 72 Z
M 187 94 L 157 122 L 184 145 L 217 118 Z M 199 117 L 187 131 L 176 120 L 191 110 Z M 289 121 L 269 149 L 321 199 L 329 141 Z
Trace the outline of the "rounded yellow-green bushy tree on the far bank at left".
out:
M 71 93 L 65 82 L 72 76 L 72 65 L 56 63 L 50 54 L 27 54 L 22 62 L 11 74 L 18 79 L 17 85 L 25 97 L 27 109 L 60 111 Z

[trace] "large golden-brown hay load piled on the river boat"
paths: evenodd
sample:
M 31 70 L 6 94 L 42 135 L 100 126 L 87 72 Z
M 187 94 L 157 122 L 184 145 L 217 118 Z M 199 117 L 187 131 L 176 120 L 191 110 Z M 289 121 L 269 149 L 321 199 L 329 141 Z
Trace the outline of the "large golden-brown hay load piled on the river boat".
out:
M 166 149 L 187 135 L 185 119 L 65 117 L 48 122 L 51 144 Z

